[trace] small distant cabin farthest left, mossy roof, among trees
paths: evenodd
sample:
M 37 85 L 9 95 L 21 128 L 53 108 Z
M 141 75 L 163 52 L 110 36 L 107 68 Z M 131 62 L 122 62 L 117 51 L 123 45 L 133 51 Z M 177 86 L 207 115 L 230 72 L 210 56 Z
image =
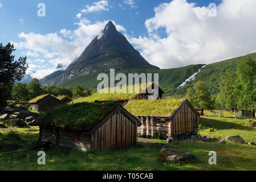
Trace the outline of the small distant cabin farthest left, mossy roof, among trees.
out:
M 32 110 L 45 111 L 49 108 L 59 106 L 60 100 L 51 94 L 45 94 L 30 100 L 29 103 Z

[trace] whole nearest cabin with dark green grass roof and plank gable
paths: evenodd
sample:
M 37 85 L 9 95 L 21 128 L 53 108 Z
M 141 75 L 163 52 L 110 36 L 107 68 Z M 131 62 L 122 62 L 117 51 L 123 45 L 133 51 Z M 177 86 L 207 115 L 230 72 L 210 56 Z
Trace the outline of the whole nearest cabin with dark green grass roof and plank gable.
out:
M 136 145 L 141 125 L 115 102 L 62 105 L 42 114 L 39 123 L 41 142 L 82 151 Z

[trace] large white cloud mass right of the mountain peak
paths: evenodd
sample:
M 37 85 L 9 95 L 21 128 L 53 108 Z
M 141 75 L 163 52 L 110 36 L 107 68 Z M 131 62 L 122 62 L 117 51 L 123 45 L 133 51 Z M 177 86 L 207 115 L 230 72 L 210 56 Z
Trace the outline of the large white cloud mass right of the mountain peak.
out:
M 174 0 L 160 4 L 145 21 L 148 36 L 128 39 L 160 68 L 209 64 L 256 52 L 255 12 L 255 0 L 223 0 L 216 17 L 208 7 Z

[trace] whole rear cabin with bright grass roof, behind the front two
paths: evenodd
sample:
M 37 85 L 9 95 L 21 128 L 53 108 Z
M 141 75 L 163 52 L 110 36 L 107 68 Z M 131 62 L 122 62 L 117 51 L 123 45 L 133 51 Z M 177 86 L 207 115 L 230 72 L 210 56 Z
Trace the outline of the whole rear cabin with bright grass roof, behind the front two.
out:
M 162 94 L 164 94 L 164 90 L 160 88 L 159 85 L 155 84 L 159 90 L 159 94 L 157 97 L 158 99 L 162 98 Z M 136 85 L 137 86 L 137 85 Z M 127 86 L 127 93 L 94 93 L 89 97 L 84 97 L 84 98 L 78 98 L 74 100 L 74 103 L 79 103 L 79 102 L 117 102 L 120 104 L 123 104 L 125 106 L 129 100 L 143 100 L 143 99 L 148 99 L 148 97 L 151 97 L 152 94 L 149 93 L 149 88 L 154 89 L 154 83 L 152 82 L 151 84 L 139 84 L 139 93 L 128 93 L 129 86 Z M 135 90 L 135 85 L 132 85 L 133 90 Z M 109 90 L 108 90 L 109 91 Z

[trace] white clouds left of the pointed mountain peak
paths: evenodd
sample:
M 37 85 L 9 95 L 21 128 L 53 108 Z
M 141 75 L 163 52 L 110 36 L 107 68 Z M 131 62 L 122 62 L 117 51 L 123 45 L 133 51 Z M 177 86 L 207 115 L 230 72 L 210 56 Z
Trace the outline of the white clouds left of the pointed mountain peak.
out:
M 118 31 L 125 32 L 125 28 L 113 21 Z M 75 24 L 78 26 L 75 30 L 62 29 L 59 33 L 50 33 L 46 35 L 30 32 L 25 34 L 21 32 L 18 36 L 24 39 L 23 42 L 13 42 L 15 48 L 21 49 L 29 57 L 27 59 L 30 65 L 40 65 L 39 71 L 32 74 L 32 77 L 43 78 L 55 71 L 58 63 L 64 66 L 69 65 L 76 57 L 84 51 L 88 44 L 100 31 L 104 29 L 104 22 L 91 23 L 86 18 L 79 19 Z M 32 58 L 36 59 L 32 59 Z M 42 63 L 47 65 L 42 69 Z M 35 67 L 34 67 L 35 68 Z

